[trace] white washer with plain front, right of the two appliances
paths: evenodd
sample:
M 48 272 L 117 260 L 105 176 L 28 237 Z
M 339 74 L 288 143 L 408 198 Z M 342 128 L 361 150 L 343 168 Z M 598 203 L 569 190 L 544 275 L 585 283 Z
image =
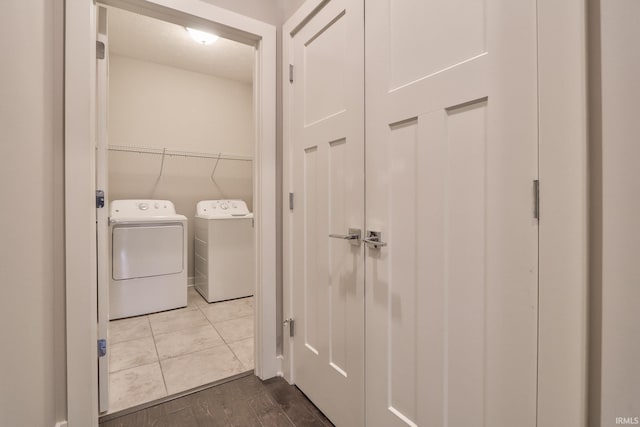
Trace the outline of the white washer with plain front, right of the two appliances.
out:
M 195 287 L 208 302 L 253 295 L 253 214 L 242 200 L 203 200 L 195 218 Z

